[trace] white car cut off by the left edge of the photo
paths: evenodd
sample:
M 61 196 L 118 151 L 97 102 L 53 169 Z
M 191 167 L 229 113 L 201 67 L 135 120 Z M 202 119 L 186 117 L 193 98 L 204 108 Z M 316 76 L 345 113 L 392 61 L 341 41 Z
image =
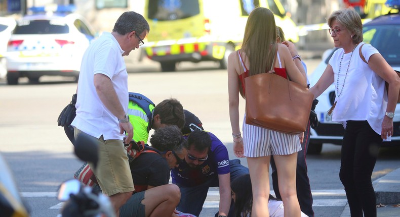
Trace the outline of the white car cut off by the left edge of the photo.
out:
M 16 25 L 15 19 L 11 17 L 0 17 L 0 79 L 6 78 L 6 52 L 7 43 L 10 39 L 11 32 Z

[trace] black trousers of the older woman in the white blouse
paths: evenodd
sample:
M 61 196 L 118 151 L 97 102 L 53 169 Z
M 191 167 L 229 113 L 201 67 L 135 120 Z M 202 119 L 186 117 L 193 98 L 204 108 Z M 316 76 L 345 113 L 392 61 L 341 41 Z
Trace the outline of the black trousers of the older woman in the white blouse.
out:
M 367 121 L 347 121 L 342 144 L 340 181 L 352 217 L 376 216 L 372 172 L 382 142 Z

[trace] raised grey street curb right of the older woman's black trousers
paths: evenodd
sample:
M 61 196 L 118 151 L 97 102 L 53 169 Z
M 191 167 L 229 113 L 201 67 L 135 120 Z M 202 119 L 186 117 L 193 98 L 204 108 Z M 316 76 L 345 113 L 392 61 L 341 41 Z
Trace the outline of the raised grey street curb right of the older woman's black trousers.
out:
M 381 177 L 375 185 L 376 203 L 400 203 L 400 168 Z

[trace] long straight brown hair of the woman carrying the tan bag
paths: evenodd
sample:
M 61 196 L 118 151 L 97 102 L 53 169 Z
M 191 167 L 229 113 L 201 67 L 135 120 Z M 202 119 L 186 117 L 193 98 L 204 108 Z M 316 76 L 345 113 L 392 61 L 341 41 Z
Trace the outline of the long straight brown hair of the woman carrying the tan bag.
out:
M 242 49 L 249 58 L 249 76 L 269 71 L 276 55 L 276 25 L 267 8 L 254 9 L 247 19 Z

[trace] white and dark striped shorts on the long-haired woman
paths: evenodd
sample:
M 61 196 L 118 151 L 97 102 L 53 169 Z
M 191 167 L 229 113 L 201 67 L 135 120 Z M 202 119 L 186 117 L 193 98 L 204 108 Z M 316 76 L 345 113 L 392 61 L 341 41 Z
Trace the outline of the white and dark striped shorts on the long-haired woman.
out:
M 246 124 L 246 114 L 242 129 L 246 157 L 288 155 L 301 151 L 300 139 L 297 135 Z

